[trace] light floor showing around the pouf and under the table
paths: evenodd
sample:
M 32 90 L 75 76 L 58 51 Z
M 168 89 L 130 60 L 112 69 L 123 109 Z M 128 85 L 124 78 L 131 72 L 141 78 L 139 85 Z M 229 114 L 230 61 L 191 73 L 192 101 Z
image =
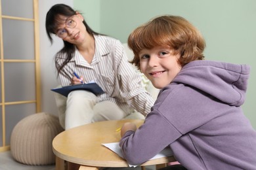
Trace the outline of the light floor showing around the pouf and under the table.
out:
M 24 165 L 13 160 L 11 152 L 0 152 L 0 170 L 54 170 L 54 165 L 44 165 L 44 166 L 32 166 Z M 140 167 L 118 167 L 118 168 L 104 168 L 104 170 L 140 170 Z M 146 166 L 146 170 L 155 170 L 154 166 Z

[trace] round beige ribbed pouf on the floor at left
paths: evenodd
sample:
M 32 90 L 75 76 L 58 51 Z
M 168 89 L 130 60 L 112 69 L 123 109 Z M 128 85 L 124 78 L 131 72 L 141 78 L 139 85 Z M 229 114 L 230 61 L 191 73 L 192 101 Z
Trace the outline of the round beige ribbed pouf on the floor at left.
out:
M 28 165 L 55 162 L 52 142 L 63 131 L 58 118 L 45 112 L 32 114 L 16 124 L 11 133 L 11 155 Z

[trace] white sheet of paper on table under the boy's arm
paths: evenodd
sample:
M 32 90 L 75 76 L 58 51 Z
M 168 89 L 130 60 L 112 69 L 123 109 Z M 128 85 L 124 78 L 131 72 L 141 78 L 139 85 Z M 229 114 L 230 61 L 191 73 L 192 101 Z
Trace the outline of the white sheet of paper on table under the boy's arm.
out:
M 119 155 L 121 158 L 123 158 L 123 153 L 121 152 L 121 148 L 119 146 L 119 143 L 102 143 L 104 146 L 112 150 L 113 152 L 116 152 L 117 155 Z M 163 158 L 165 156 L 172 156 L 173 151 L 171 148 L 165 148 L 160 153 L 158 153 L 156 156 L 151 158 L 150 160 L 156 159 L 156 158 Z M 130 165 L 129 167 L 137 167 L 138 165 Z

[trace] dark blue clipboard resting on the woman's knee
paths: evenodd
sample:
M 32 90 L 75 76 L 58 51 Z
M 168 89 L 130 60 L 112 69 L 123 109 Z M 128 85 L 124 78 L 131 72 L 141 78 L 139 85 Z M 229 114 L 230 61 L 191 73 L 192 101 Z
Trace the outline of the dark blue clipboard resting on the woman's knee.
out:
M 51 89 L 53 92 L 60 93 L 61 95 L 64 95 L 68 97 L 68 94 L 74 90 L 87 90 L 89 92 L 94 93 L 95 95 L 99 95 L 104 93 L 102 88 L 96 84 L 96 82 L 91 82 L 87 84 L 75 84 L 72 86 L 64 86 L 61 88 L 53 88 Z

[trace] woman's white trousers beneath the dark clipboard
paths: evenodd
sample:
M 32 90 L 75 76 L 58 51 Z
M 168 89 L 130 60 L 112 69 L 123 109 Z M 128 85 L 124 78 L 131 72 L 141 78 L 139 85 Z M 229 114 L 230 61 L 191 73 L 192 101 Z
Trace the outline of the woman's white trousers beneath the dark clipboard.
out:
M 120 120 L 127 116 L 115 103 L 101 101 L 85 90 L 75 90 L 66 101 L 65 129 L 98 122 L 102 120 Z

